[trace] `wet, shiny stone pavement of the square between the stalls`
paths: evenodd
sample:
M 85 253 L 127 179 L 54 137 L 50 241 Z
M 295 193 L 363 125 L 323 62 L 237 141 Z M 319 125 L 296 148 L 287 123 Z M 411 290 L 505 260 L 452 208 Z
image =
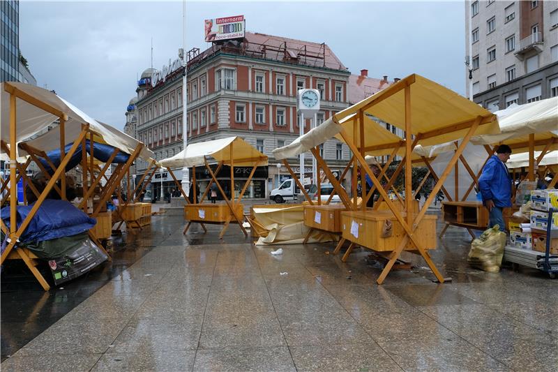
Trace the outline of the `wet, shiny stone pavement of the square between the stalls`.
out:
M 153 216 L 153 247 L 1 364 L 2 371 L 555 371 L 558 281 L 467 267 L 450 228 L 425 263 L 380 269 L 333 244 L 260 247 L 236 226 L 182 235 Z M 130 238 L 130 239 L 131 239 Z

